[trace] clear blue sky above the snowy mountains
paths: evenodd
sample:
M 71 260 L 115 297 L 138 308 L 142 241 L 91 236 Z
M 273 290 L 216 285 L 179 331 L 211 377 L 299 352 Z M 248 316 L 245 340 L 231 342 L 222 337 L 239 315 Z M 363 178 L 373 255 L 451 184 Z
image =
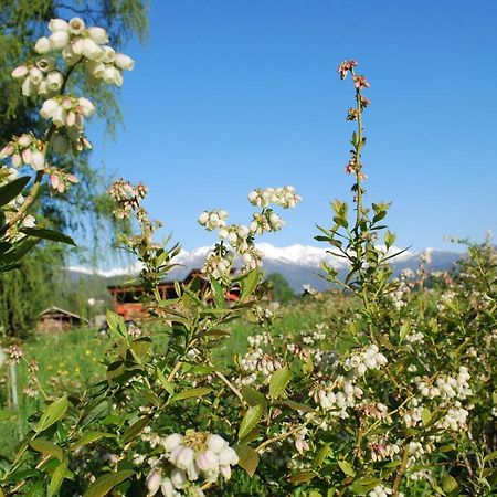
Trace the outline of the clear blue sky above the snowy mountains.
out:
M 125 128 L 89 127 L 96 167 L 150 188 L 147 208 L 184 248 L 213 242 L 197 224 L 225 208 L 247 222 L 247 193 L 293 184 L 304 198 L 261 241 L 313 244 L 349 199 L 357 59 L 371 83 L 363 161 L 369 201 L 392 201 L 398 245 L 453 248 L 497 229 L 494 0 L 152 0 L 150 36 L 130 44 Z

